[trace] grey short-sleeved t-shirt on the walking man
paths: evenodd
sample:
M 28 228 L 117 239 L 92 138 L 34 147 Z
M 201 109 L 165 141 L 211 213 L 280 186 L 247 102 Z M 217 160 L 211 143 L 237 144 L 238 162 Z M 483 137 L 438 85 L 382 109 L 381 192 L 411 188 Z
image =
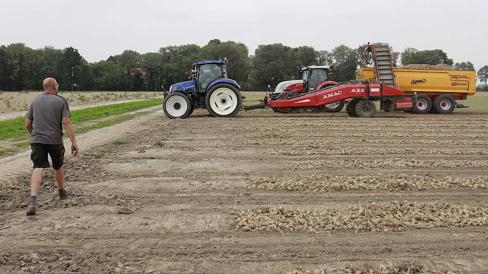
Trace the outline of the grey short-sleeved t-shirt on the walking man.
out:
M 71 117 L 68 103 L 52 93 L 39 95 L 30 105 L 25 118 L 32 120 L 30 143 L 62 144 L 63 117 Z

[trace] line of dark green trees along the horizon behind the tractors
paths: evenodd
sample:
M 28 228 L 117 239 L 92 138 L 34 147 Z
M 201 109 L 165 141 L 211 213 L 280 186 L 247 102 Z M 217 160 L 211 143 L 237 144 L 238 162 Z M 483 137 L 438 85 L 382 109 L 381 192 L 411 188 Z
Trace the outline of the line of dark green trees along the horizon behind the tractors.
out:
M 403 52 L 392 49 L 394 65 L 447 64 L 457 70 L 475 68 L 469 61 L 454 64 L 441 49 Z M 229 59 L 228 77 L 238 81 L 243 90 L 266 90 L 267 85 L 297 77 L 298 67 L 333 64 L 332 80 L 341 82 L 355 78 L 358 67 L 371 64 L 364 45 L 351 48 L 339 45 L 332 50 L 316 50 L 310 46 L 290 47 L 281 43 L 259 45 L 249 55 L 240 42 L 213 39 L 205 46 L 187 44 L 161 47 L 158 52 L 138 53 L 125 50 L 99 62 L 87 62 L 73 47 L 56 49 L 46 46 L 32 49 L 23 43 L 0 46 L 0 90 L 39 90 L 45 77 L 57 79 L 61 90 L 88 91 L 160 91 L 161 85 L 188 80 L 185 75 L 194 60 Z M 478 71 L 485 83 L 488 66 Z M 72 85 L 72 83 L 74 85 Z

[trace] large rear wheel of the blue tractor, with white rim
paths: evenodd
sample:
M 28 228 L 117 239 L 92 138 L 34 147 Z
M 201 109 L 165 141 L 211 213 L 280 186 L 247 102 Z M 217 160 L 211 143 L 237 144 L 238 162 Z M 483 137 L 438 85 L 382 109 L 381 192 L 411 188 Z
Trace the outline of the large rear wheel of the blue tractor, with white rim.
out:
M 207 92 L 205 104 L 214 117 L 233 117 L 241 110 L 243 98 L 236 86 L 220 83 Z

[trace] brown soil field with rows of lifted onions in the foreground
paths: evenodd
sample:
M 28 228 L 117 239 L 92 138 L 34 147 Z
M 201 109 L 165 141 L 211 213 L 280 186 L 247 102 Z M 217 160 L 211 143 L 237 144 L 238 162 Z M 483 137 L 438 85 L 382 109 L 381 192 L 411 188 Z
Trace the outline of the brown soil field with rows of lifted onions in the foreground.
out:
M 487 121 L 157 111 L 81 135 L 33 217 L 3 157 L 0 273 L 488 273 Z

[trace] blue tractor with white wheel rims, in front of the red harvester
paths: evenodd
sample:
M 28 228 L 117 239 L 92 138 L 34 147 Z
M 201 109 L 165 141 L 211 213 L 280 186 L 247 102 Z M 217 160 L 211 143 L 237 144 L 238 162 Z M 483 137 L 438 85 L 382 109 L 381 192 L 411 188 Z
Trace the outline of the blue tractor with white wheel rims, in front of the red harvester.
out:
M 164 94 L 163 110 L 170 119 L 185 118 L 195 108 L 207 108 L 214 117 L 233 117 L 242 108 L 241 86 L 227 78 L 224 61 L 195 62 L 191 81 L 171 85 Z

